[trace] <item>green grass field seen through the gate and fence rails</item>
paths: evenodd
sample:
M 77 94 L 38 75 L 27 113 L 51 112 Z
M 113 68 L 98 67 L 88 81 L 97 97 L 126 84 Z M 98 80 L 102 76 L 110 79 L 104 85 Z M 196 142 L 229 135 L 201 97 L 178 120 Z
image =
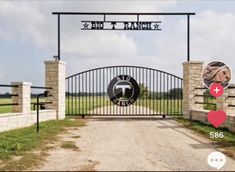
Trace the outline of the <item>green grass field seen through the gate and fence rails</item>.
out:
M 40 102 L 43 102 L 40 99 Z M 35 103 L 36 99 L 33 98 L 31 103 Z M 215 103 L 214 99 L 207 99 L 205 102 Z M 12 103 L 10 98 L 0 99 L 0 104 Z M 66 98 L 66 113 L 81 115 L 87 114 L 89 111 L 102 106 L 112 106 L 113 103 L 107 98 L 102 96 L 96 97 L 73 97 L 73 99 Z M 180 114 L 182 111 L 181 100 L 180 99 L 138 99 L 134 105 L 147 107 L 157 113 L 167 113 L 167 114 Z M 215 110 L 214 105 L 204 105 L 204 109 Z M 33 110 L 33 105 L 31 105 L 31 110 Z M 12 106 L 0 106 L 0 114 L 12 112 Z

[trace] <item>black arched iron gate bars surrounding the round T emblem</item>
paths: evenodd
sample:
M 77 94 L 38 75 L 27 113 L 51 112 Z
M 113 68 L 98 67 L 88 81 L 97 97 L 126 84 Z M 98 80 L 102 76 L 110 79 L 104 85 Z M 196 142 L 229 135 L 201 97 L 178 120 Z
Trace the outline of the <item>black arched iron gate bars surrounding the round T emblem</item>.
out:
M 126 75 L 139 86 L 129 106 L 114 104 L 107 93 L 113 78 Z M 139 66 L 108 66 L 66 78 L 66 114 L 92 116 L 150 116 L 182 114 L 182 78 Z

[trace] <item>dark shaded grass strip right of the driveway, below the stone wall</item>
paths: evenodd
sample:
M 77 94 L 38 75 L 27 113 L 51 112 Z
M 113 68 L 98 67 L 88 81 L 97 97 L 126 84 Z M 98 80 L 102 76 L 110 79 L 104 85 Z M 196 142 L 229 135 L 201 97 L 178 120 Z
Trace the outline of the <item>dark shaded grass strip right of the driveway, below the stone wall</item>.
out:
M 190 121 L 184 118 L 178 118 L 177 121 L 183 124 L 186 128 L 192 129 L 196 133 L 208 138 L 212 141 L 215 148 L 222 148 L 223 152 L 235 159 L 235 133 L 232 133 L 224 128 L 214 128 L 212 125 L 204 124 L 199 121 Z M 210 138 L 211 132 L 223 132 L 223 138 Z

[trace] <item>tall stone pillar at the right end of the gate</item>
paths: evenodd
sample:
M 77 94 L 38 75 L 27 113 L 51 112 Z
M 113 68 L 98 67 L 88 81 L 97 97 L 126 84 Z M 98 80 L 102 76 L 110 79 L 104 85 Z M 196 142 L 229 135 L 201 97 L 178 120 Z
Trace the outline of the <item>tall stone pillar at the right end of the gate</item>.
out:
M 183 116 L 190 119 L 191 109 L 203 109 L 203 105 L 195 104 L 195 101 L 203 102 L 202 97 L 195 97 L 196 94 L 203 94 L 202 90 L 196 87 L 203 87 L 202 74 L 203 62 L 190 61 L 183 63 Z

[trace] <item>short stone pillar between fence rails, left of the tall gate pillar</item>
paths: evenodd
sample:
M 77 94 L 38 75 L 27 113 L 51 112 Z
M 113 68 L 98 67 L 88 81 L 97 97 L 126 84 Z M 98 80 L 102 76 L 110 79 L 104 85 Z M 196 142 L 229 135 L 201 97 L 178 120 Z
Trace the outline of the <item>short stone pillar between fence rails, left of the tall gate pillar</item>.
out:
M 12 103 L 18 103 L 13 106 L 12 112 L 30 113 L 32 84 L 30 82 L 12 82 L 11 85 L 17 85 L 17 87 L 12 87 L 12 94 L 18 95 L 12 97 Z

